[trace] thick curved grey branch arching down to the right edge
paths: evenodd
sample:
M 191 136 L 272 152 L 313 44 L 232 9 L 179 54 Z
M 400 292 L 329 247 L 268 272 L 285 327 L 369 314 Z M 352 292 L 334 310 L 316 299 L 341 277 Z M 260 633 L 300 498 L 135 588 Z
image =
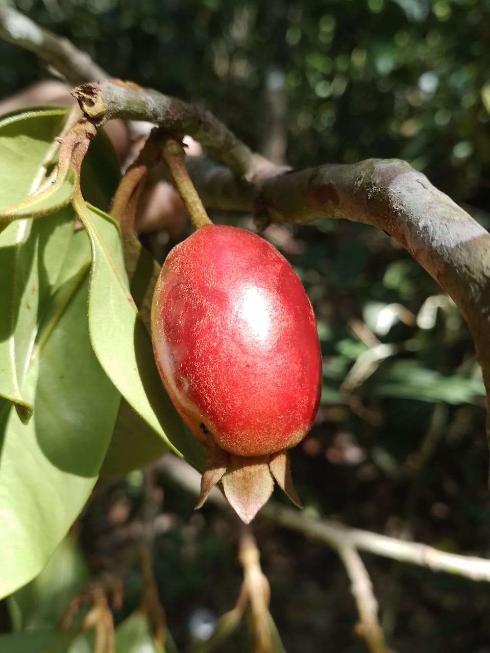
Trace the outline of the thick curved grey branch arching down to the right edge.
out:
M 265 182 L 261 197 L 272 221 L 344 217 L 395 238 L 463 313 L 490 407 L 490 234 L 476 220 L 397 159 L 284 174 Z

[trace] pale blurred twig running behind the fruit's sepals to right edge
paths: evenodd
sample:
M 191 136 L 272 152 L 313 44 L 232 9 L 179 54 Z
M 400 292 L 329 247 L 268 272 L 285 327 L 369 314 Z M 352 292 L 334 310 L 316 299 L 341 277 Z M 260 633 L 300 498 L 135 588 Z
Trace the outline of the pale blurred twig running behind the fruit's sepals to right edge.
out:
M 174 483 L 199 496 L 201 476 L 186 462 L 167 454 L 158 461 L 157 467 Z M 210 492 L 208 502 L 223 507 L 227 505 L 225 498 L 215 489 Z M 351 546 L 383 558 L 426 567 L 431 571 L 452 573 L 472 581 L 490 582 L 490 560 L 485 558 L 446 553 L 418 542 L 402 541 L 396 537 L 349 528 L 327 519 L 315 519 L 309 517 L 306 511 L 299 511 L 274 501 L 267 503 L 257 518 L 268 519 L 283 528 L 314 537 L 335 549 Z

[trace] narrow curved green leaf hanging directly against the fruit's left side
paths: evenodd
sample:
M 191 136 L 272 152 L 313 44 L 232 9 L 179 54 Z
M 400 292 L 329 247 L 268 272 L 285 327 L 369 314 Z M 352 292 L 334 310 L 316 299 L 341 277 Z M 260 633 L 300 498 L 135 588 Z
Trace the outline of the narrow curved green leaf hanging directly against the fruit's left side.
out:
M 175 453 L 201 469 L 203 447 L 163 388 L 150 336 L 129 293 L 118 226 L 80 199 L 76 210 L 91 240 L 89 328 L 95 355 L 128 404 Z

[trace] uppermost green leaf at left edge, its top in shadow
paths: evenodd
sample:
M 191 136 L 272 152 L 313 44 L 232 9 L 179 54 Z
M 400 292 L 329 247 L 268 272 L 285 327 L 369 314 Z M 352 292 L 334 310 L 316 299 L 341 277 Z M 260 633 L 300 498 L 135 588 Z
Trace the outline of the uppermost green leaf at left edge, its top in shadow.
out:
M 41 184 L 69 109 L 16 113 L 0 121 L 0 209 L 22 202 Z

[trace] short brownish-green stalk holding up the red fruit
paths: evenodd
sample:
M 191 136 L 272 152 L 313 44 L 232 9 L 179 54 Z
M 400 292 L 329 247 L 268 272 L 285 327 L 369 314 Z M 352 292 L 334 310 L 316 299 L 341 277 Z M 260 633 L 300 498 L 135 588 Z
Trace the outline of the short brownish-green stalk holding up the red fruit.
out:
M 212 225 L 206 209 L 197 194 L 194 184 L 191 182 L 188 170 L 186 168 L 186 152 L 181 142 L 178 142 L 172 136 L 167 136 L 163 142 L 162 155 L 165 163 L 169 167 L 172 180 L 178 190 L 182 201 L 186 205 L 189 219 L 194 229 L 208 227 Z

